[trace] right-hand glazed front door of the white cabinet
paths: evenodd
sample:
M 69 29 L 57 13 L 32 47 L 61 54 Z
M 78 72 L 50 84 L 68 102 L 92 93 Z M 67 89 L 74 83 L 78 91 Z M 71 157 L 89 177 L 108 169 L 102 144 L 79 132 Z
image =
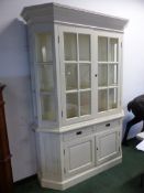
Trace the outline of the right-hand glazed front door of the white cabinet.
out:
M 120 109 L 121 49 L 120 34 L 98 33 L 98 112 Z

